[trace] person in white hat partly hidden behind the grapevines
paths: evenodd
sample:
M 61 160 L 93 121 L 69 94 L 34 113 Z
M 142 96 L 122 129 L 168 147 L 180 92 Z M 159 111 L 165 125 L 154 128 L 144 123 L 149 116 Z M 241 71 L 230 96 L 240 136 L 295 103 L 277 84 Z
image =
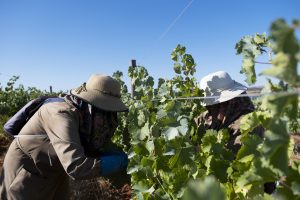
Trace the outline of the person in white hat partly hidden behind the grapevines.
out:
M 196 123 L 204 124 L 205 129 L 228 129 L 230 138 L 228 149 L 237 153 L 241 147 L 240 122 L 241 118 L 255 110 L 251 99 L 247 96 L 247 87 L 234 81 L 225 71 L 217 71 L 206 75 L 200 81 L 200 88 L 205 92 L 203 101 L 207 112 L 204 112 Z M 251 134 L 260 137 L 264 135 L 263 127 L 255 128 Z M 272 193 L 275 183 L 266 183 L 264 190 Z

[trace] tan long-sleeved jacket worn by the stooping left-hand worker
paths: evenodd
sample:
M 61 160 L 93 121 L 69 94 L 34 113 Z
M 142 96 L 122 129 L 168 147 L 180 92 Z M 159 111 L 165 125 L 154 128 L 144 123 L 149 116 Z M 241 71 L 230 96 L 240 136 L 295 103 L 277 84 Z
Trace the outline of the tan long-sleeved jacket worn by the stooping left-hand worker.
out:
M 69 198 L 69 177 L 100 175 L 100 161 L 84 155 L 79 111 L 66 102 L 43 105 L 23 127 L 6 154 L 0 199 Z

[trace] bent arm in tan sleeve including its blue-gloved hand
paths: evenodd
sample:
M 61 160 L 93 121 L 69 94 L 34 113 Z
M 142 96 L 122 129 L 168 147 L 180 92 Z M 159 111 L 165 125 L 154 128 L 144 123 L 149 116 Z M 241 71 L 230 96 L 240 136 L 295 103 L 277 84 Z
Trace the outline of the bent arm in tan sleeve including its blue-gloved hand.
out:
M 108 176 L 128 164 L 120 152 L 103 154 L 98 159 L 86 157 L 80 142 L 79 117 L 74 109 L 47 110 L 45 131 L 66 173 L 73 179 Z M 51 113 L 51 114 L 50 114 Z

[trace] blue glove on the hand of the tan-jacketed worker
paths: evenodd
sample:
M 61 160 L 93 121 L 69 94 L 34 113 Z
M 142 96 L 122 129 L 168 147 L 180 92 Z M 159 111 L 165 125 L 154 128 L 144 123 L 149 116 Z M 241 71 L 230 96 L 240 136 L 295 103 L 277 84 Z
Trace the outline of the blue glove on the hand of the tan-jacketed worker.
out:
M 100 170 L 102 176 L 109 176 L 125 169 L 128 165 L 128 157 L 124 152 L 106 152 L 100 155 Z

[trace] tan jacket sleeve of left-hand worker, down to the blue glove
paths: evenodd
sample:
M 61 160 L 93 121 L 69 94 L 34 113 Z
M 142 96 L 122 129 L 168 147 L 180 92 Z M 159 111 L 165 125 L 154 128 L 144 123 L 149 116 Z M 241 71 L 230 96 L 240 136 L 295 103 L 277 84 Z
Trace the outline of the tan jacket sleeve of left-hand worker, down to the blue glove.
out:
M 78 112 L 53 107 L 47 105 L 42 112 L 44 129 L 66 173 L 73 179 L 100 176 L 100 160 L 84 155 Z

